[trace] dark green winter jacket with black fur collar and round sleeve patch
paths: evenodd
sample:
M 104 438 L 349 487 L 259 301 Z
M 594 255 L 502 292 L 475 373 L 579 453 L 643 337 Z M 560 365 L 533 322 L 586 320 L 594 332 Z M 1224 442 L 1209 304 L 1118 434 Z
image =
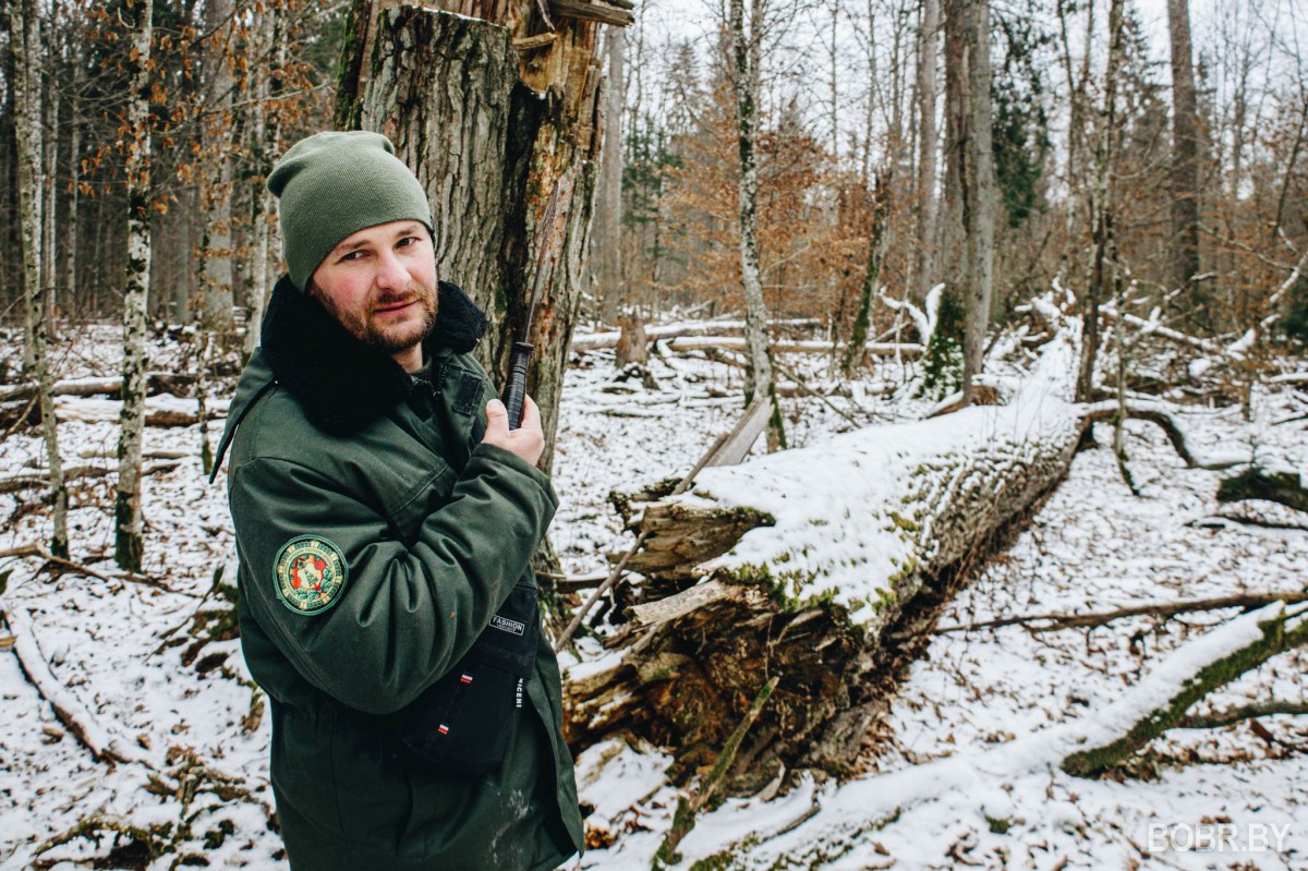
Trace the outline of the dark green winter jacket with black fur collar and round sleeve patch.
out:
M 543 636 L 488 774 L 436 770 L 395 734 L 514 583 L 534 582 L 559 504 L 543 472 L 480 443 L 494 388 L 468 352 L 484 330 L 441 282 L 433 374 L 417 381 L 283 279 L 237 387 L 217 464 L 230 446 L 241 642 L 271 700 L 294 871 L 535 871 L 582 849 Z

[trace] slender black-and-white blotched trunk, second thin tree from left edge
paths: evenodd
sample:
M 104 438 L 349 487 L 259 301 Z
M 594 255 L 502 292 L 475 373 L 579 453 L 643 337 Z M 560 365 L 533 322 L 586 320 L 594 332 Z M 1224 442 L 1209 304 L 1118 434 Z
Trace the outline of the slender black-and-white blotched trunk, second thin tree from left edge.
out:
M 145 332 L 150 286 L 150 37 L 153 0 L 136 0 L 124 25 L 132 56 L 127 71 L 127 275 L 123 293 L 123 411 L 118 442 L 118 490 L 114 500 L 114 560 L 141 570 L 145 549 L 141 519 L 141 432 L 145 425 Z M 129 20 L 129 21 L 128 21 Z

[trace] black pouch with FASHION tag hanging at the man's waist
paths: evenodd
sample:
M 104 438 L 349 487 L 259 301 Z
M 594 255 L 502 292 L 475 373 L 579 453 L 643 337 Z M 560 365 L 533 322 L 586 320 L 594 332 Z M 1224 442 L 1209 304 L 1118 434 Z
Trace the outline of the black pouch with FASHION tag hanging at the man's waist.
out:
M 540 603 L 531 569 L 468 653 L 395 715 L 400 743 L 441 773 L 485 774 L 504 759 L 528 705 Z

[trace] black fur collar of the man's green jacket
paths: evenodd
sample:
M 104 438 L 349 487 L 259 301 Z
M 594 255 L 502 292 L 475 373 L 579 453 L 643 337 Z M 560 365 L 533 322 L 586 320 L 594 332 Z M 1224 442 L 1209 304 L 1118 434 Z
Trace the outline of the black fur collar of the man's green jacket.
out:
M 441 281 L 436 326 L 422 343 L 467 353 L 487 330 L 487 316 L 463 290 Z M 413 379 L 390 354 L 352 336 L 317 301 L 283 276 L 272 289 L 259 332 L 273 377 L 319 429 L 349 434 L 408 398 Z

